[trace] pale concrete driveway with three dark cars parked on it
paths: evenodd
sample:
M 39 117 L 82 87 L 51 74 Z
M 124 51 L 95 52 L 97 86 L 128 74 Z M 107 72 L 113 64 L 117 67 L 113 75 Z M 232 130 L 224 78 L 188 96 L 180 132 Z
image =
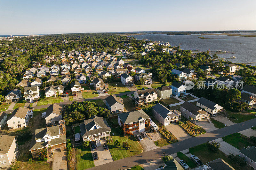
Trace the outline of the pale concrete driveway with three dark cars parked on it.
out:
M 95 166 L 103 165 L 103 164 L 113 161 L 109 150 L 107 150 L 107 151 L 104 150 L 104 148 L 103 148 L 104 143 L 105 143 L 105 141 L 100 141 L 101 146 L 97 147 L 96 151 L 92 151 L 92 157 L 93 157 L 94 152 L 97 152 L 98 157 L 99 157 L 99 160 L 93 160 Z M 91 147 L 91 145 L 90 145 L 90 147 Z M 91 150 L 92 150 L 92 148 L 91 148 Z

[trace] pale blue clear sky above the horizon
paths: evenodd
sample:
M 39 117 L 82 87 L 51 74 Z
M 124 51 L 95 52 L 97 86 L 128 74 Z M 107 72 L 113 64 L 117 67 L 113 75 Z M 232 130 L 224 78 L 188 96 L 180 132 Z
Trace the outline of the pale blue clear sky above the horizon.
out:
M 256 30 L 256 0 L 0 0 L 0 35 Z

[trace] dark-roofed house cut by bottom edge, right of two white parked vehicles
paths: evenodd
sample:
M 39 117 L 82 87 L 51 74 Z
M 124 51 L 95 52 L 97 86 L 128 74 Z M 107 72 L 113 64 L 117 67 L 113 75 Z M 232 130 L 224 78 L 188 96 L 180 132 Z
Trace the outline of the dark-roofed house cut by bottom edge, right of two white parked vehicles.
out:
M 208 169 L 211 169 L 211 170 L 220 170 L 220 169 L 235 170 L 235 168 L 230 166 L 227 162 L 225 162 L 221 158 L 215 159 L 215 160 L 213 160 L 211 162 L 208 162 L 206 164 L 208 165 Z

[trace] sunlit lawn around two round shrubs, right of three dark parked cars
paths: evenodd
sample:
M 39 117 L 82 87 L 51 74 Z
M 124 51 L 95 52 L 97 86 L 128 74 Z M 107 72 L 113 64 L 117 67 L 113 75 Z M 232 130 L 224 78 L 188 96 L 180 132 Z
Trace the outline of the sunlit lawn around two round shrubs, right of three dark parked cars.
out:
M 130 157 L 133 155 L 137 155 L 142 152 L 142 148 L 134 136 L 124 137 L 124 135 L 119 135 L 115 128 L 111 128 L 111 138 L 113 139 L 113 142 L 108 143 L 108 148 L 114 161 L 118 159 Z M 121 146 L 119 148 L 116 148 L 114 144 L 115 140 L 120 140 Z M 129 150 L 123 149 L 122 148 L 123 142 L 128 142 L 128 144 L 131 145 L 131 148 Z

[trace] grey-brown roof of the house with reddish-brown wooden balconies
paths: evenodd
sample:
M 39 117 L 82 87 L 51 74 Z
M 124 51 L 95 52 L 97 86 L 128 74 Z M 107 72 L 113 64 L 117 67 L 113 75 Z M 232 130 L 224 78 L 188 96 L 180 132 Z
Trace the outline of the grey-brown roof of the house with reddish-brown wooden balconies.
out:
M 136 110 L 133 112 L 120 113 L 120 114 L 117 114 L 117 116 L 121 119 L 121 121 L 124 124 L 137 122 L 141 119 L 150 119 L 150 117 L 142 109 Z

